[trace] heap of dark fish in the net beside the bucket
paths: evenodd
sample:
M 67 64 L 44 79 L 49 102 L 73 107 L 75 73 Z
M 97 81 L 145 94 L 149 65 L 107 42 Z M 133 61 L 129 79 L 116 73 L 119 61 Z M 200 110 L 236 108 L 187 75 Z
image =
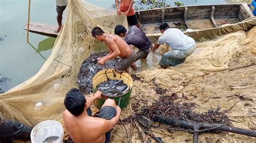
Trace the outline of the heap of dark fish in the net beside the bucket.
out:
M 98 65 L 97 59 L 107 55 L 108 52 L 98 52 L 90 54 L 90 56 L 84 60 L 78 73 L 78 87 L 84 94 L 92 93 L 92 78 L 98 71 L 103 69 L 113 68 L 117 63 L 117 58 L 106 61 L 105 65 Z

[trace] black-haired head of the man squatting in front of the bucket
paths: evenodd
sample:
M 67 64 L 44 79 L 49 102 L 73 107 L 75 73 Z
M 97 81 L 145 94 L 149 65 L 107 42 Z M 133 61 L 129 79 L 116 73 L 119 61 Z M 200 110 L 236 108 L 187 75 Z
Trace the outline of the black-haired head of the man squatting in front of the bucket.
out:
M 70 89 L 64 99 L 66 109 L 72 113 L 73 116 L 79 116 L 84 112 L 86 99 L 82 92 L 76 88 Z

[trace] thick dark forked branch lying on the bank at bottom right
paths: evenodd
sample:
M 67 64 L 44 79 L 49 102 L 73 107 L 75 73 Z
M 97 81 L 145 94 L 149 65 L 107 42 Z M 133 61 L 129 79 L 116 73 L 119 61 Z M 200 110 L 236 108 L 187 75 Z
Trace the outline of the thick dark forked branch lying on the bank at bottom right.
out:
M 175 127 L 185 128 L 187 132 L 193 133 L 194 142 L 198 142 L 198 134 L 210 130 L 214 131 L 225 131 L 237 134 L 243 134 L 250 137 L 256 137 L 256 131 L 246 130 L 238 127 L 226 126 L 225 124 L 213 124 L 213 123 L 193 123 L 186 120 L 177 120 L 174 118 L 161 117 L 159 115 L 154 115 L 152 118 L 154 121 L 163 123 L 166 125 L 171 125 Z

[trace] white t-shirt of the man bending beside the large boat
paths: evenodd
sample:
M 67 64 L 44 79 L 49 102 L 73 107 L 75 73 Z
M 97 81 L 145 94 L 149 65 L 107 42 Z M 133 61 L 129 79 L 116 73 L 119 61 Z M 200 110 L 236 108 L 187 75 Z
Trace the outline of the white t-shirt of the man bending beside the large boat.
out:
M 169 45 L 173 50 L 184 50 L 192 47 L 196 44 L 193 38 L 185 35 L 181 30 L 177 28 L 168 28 L 159 37 L 157 44 Z

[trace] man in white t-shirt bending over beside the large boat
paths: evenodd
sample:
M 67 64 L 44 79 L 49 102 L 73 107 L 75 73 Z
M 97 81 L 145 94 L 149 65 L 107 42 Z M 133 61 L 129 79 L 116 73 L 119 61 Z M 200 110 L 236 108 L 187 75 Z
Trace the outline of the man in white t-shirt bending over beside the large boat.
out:
M 172 48 L 172 51 L 166 52 L 161 58 L 159 65 L 161 68 L 177 66 L 183 63 L 187 56 L 190 56 L 196 50 L 196 42 L 191 37 L 185 35 L 177 28 L 170 28 L 167 23 L 159 26 L 162 35 L 157 44 L 154 45 L 154 52 L 161 44 L 166 43 Z

